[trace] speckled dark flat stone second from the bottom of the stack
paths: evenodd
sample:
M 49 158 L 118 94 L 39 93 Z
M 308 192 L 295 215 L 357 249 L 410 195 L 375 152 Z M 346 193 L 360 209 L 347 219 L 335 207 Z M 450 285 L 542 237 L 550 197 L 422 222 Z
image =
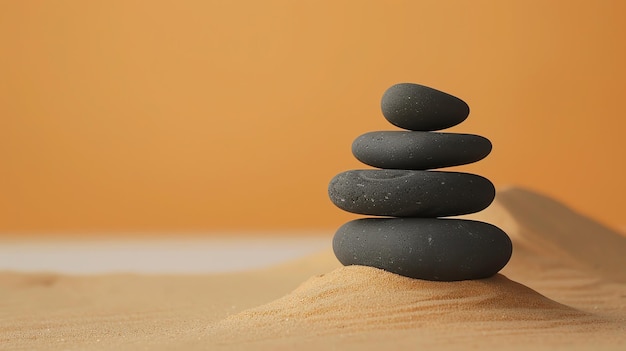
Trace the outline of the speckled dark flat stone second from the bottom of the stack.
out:
M 481 176 L 441 171 L 351 170 L 328 186 L 330 200 L 344 211 L 375 216 L 445 217 L 478 212 L 496 190 Z

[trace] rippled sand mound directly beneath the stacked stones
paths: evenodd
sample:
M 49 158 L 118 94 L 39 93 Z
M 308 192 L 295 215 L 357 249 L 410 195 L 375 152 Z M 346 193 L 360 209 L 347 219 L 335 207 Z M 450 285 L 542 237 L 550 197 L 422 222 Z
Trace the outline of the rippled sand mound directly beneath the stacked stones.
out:
M 309 279 L 290 294 L 209 327 L 228 342 L 292 336 L 361 333 L 384 329 L 489 330 L 576 326 L 588 314 L 554 302 L 503 275 L 462 282 L 405 278 L 376 268 L 350 266 Z

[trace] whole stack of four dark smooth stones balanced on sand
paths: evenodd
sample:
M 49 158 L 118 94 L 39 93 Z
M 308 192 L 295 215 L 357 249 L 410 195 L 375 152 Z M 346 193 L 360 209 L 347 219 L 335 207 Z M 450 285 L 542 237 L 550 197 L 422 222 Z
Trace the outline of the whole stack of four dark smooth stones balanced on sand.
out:
M 478 135 L 433 132 L 463 122 L 462 100 L 418 84 L 389 88 L 382 112 L 406 131 L 359 136 L 352 153 L 380 169 L 350 170 L 330 182 L 331 201 L 362 218 L 341 226 L 333 249 L 344 265 L 364 265 L 407 277 L 455 281 L 490 277 L 509 261 L 508 235 L 488 223 L 440 218 L 478 212 L 495 188 L 478 175 L 431 169 L 476 162 L 491 152 Z

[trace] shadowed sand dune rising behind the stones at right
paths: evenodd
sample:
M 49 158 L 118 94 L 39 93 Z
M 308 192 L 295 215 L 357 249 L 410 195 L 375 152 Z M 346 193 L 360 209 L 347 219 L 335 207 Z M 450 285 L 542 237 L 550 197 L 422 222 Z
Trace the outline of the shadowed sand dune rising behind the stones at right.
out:
M 626 283 L 626 237 L 528 190 L 500 191 L 491 210 L 498 206 L 517 224 L 517 230 L 509 232 L 520 252 L 517 256 L 546 256 L 606 281 Z M 483 216 L 488 220 L 489 212 Z

